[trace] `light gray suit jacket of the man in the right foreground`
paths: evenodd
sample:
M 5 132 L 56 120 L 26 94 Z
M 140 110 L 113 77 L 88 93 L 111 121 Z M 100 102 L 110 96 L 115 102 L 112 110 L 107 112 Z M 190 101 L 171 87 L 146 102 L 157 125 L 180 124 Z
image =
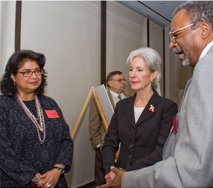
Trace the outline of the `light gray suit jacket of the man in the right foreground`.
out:
M 127 172 L 122 187 L 213 187 L 213 47 L 196 64 L 164 161 Z

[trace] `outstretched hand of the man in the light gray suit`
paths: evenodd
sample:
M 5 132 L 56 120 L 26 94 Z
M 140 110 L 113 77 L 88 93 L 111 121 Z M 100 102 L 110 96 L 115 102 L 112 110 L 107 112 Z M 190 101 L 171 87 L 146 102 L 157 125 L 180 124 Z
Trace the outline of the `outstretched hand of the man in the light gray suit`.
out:
M 119 170 L 119 169 L 115 168 L 114 166 L 111 166 L 110 169 L 116 175 L 114 180 L 105 184 L 105 185 L 98 186 L 97 188 L 106 188 L 106 187 L 108 187 L 108 188 L 120 188 L 121 187 L 122 177 L 126 173 L 126 171 Z

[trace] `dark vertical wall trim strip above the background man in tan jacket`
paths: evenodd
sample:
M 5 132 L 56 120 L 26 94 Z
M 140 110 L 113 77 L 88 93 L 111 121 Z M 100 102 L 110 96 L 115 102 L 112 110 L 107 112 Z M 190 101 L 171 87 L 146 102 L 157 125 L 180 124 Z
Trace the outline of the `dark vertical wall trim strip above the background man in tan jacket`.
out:
M 106 80 L 106 1 L 101 1 L 101 84 Z

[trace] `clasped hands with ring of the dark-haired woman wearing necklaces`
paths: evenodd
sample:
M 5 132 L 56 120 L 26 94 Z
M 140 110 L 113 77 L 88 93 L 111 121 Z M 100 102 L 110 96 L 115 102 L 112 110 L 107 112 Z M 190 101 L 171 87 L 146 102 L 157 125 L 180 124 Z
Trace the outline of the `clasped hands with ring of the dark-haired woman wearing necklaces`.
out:
M 54 168 L 40 176 L 42 181 L 39 181 L 39 183 L 37 184 L 37 187 L 53 188 L 58 183 L 60 176 L 61 176 L 61 173 L 59 172 L 59 170 Z

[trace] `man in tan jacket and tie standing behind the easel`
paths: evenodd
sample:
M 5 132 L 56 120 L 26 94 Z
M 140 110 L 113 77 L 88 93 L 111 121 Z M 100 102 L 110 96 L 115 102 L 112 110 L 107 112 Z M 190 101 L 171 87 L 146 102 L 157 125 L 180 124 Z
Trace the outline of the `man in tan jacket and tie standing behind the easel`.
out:
M 126 87 L 126 79 L 120 71 L 113 71 L 107 75 L 106 84 L 108 86 L 107 93 L 112 104 L 113 109 L 116 103 L 129 97 L 124 93 Z M 91 100 L 89 111 L 89 133 L 90 141 L 95 150 L 95 186 L 105 183 L 105 171 L 103 168 L 102 146 L 104 144 L 104 137 L 106 131 L 103 122 L 99 115 L 94 98 Z

